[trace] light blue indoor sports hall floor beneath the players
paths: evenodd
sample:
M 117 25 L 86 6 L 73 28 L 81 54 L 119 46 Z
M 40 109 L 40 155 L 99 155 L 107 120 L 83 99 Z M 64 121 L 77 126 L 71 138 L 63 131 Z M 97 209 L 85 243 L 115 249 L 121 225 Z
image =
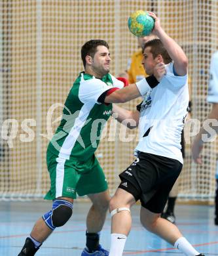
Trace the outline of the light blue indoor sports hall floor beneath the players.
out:
M 75 203 L 71 220 L 57 228 L 36 255 L 79 256 L 85 244 L 85 216 L 89 203 Z M 0 202 L 0 256 L 17 256 L 35 221 L 50 208 L 50 202 Z M 218 255 L 218 226 L 213 207 L 176 205 L 177 226 L 191 244 L 205 255 Z M 139 205 L 132 209 L 133 225 L 124 255 L 182 255 L 139 223 Z M 110 216 L 101 232 L 101 244 L 110 245 Z

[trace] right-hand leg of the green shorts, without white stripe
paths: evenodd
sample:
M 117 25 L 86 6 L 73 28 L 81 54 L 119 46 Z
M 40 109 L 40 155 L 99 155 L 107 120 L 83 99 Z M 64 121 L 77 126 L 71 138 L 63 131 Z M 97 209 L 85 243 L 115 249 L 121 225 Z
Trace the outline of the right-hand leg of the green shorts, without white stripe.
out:
M 89 171 L 81 173 L 76 190 L 79 196 L 96 194 L 107 190 L 107 180 L 96 158 L 94 158 Z

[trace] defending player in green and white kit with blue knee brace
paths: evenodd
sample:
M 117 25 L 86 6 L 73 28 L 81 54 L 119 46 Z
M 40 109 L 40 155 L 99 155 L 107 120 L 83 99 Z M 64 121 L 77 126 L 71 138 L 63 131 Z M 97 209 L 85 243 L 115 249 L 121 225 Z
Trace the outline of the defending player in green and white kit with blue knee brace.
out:
M 48 144 L 46 160 L 51 186 L 45 199 L 53 201 L 52 209 L 35 223 L 18 256 L 35 255 L 54 228 L 69 220 L 77 194 L 87 195 L 92 201 L 82 256 L 109 254 L 99 240 L 110 198 L 105 175 L 94 152 L 103 124 L 111 116 L 111 103 L 126 102 L 146 93 L 148 88 L 158 84 L 164 75 L 164 66 L 157 65 L 155 77 L 149 77 L 140 88 L 136 84 L 124 87 L 122 81 L 109 74 L 111 58 L 105 41 L 86 42 L 81 57 L 84 72 L 73 83 L 62 121 Z

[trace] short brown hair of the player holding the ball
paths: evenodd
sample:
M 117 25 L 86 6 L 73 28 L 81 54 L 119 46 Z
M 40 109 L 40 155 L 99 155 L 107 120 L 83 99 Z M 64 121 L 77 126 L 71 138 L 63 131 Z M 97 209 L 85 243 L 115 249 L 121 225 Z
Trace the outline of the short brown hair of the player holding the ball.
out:
M 147 47 L 151 47 L 150 52 L 152 53 L 153 58 L 156 58 L 156 56 L 158 56 L 158 54 L 160 54 L 163 57 L 165 64 L 172 62 L 172 58 L 166 51 L 166 49 L 165 49 L 162 41 L 160 41 L 160 39 L 153 39 L 151 41 L 147 41 L 147 43 L 145 43 L 143 51 Z

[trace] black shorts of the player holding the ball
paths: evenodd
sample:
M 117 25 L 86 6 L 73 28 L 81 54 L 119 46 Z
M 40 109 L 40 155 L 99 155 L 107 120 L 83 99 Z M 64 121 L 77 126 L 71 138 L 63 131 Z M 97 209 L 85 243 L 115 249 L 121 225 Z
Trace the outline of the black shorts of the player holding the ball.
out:
M 179 177 L 183 165 L 172 158 L 140 152 L 125 171 L 120 173 L 118 186 L 141 201 L 153 213 L 162 213 L 170 190 Z

